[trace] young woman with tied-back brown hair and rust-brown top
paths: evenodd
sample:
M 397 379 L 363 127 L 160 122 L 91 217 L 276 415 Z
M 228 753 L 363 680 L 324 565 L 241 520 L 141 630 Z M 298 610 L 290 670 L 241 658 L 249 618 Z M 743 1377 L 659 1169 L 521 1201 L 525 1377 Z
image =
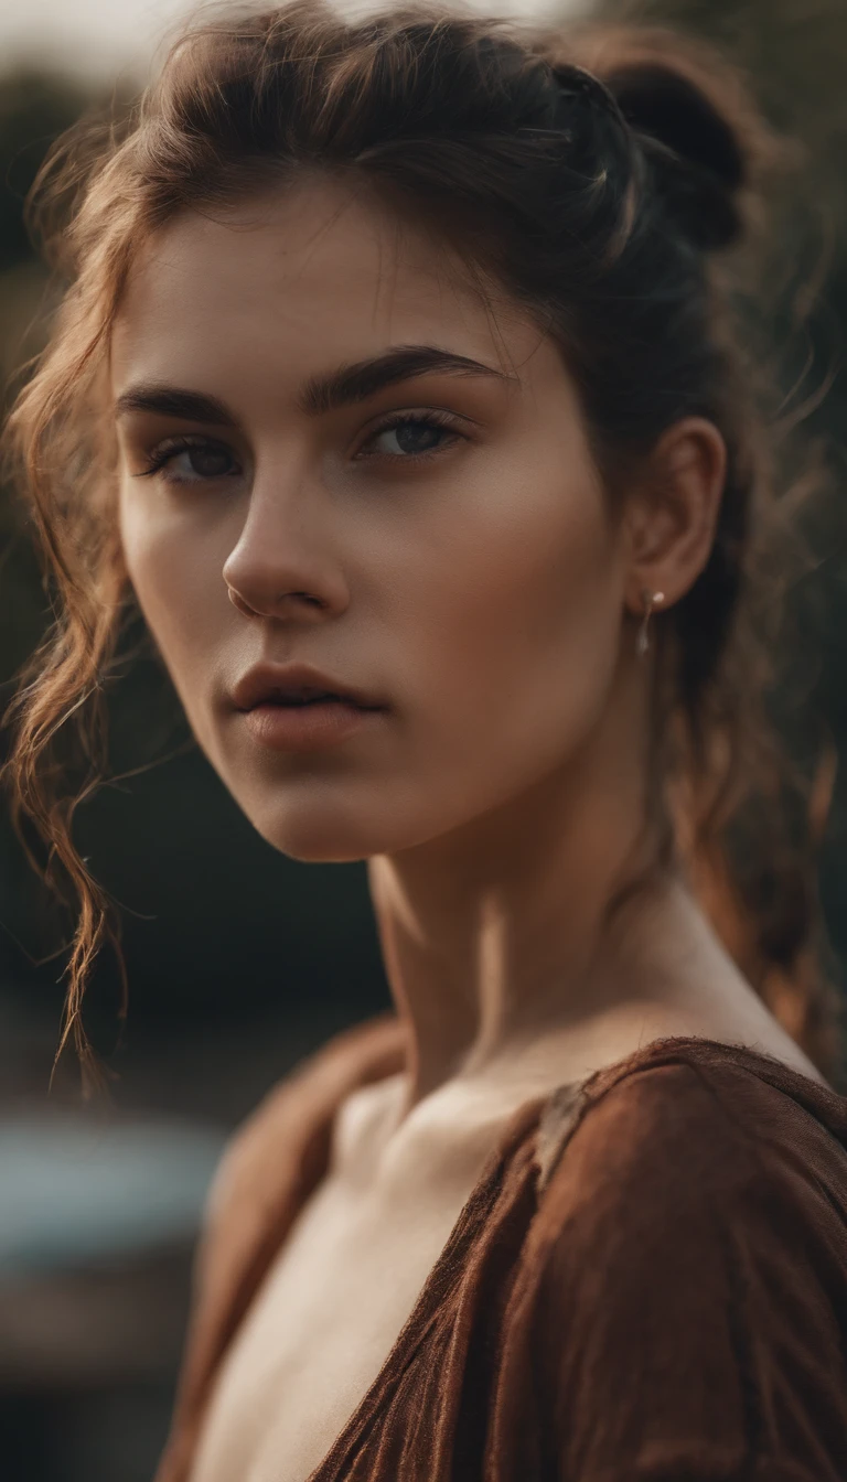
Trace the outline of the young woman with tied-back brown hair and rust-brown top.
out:
M 779 910 L 727 843 L 765 154 L 666 36 L 298 0 L 190 30 L 82 181 L 10 422 L 65 1033 L 104 901 L 45 757 L 128 591 L 263 837 L 368 861 L 396 1000 L 224 1159 L 157 1482 L 847 1476 L 847 1101 L 768 772 Z

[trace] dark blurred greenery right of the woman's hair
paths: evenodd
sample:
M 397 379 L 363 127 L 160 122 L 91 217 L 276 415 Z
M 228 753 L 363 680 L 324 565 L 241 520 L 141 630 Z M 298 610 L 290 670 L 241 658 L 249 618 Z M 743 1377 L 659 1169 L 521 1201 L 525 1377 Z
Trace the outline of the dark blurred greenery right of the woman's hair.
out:
M 822 477 L 800 526 L 811 566 L 788 593 L 791 622 L 773 711 L 798 754 L 822 738 L 840 756 L 822 870 L 834 947 L 847 960 L 847 3 L 846 0 L 596 0 L 593 15 L 670 25 L 716 44 L 748 73 L 770 123 L 801 147 L 774 182 L 770 231 L 754 246 L 749 335 L 797 419 L 786 471 L 805 455 Z M 814 483 L 816 480 L 813 480 Z

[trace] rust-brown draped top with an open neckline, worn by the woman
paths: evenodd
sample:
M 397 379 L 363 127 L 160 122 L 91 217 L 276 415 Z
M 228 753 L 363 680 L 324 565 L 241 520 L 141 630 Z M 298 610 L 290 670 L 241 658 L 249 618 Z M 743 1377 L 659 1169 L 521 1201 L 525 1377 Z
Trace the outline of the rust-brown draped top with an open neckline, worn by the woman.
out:
M 395 1015 L 369 1020 L 236 1135 L 154 1482 L 187 1482 L 211 1380 L 326 1172 L 337 1107 L 403 1060 Z M 847 1098 L 673 1037 L 510 1119 L 309 1482 L 718 1479 L 847 1479 Z

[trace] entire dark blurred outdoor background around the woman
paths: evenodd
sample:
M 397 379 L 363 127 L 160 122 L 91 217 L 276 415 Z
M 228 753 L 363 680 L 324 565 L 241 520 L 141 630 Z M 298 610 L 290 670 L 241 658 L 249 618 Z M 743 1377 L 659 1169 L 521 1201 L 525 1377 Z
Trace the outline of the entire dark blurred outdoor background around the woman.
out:
M 42 344 L 53 302 L 22 225 L 33 176 L 80 113 L 136 95 L 185 9 L 181 0 L 6 0 L 0 10 L 3 387 Z M 544 13 L 567 12 L 552 4 Z M 834 477 L 810 531 L 814 566 L 791 593 L 801 702 L 795 674 L 774 704 L 800 753 L 829 735 L 843 754 L 847 0 L 598 0 L 593 12 L 672 21 L 718 40 L 752 73 L 770 119 L 807 145 L 808 167 L 779 202 L 764 328 L 786 405 L 805 408 Z M 0 710 L 47 617 L 27 532 L 0 491 Z M 111 691 L 110 735 L 114 775 L 135 775 L 79 809 L 76 839 L 123 907 L 123 1033 L 108 950 L 86 1009 L 114 1073 L 111 1107 L 83 1104 L 73 1055 L 47 1095 L 68 920 L 0 817 L 0 1457 L 9 1482 L 150 1479 L 172 1405 L 197 1220 L 227 1134 L 304 1054 L 389 1003 L 365 867 L 301 865 L 266 845 L 191 744 L 153 657 L 141 654 Z M 840 981 L 844 805 L 840 778 L 822 857 Z

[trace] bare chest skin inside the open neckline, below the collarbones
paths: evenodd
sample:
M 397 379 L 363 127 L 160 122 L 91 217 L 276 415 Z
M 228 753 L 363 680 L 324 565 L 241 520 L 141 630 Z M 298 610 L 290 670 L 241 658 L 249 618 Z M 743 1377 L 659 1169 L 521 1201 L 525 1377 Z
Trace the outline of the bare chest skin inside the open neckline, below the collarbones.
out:
M 191 1482 L 306 1482 L 389 1358 L 478 1171 L 439 1197 L 325 1180 L 224 1359 Z

